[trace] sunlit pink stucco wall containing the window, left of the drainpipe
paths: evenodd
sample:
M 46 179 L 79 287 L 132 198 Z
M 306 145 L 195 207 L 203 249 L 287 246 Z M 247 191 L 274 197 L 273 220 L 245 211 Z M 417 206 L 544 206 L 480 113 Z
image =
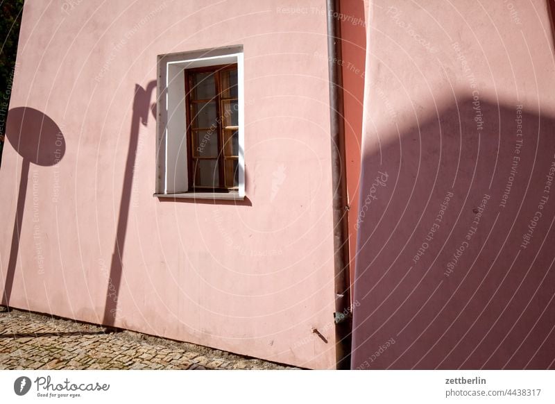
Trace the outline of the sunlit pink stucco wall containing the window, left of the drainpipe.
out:
M 10 305 L 333 368 L 324 7 L 26 2 L 0 171 L 0 285 L 10 286 Z M 145 89 L 156 80 L 157 55 L 237 44 L 245 60 L 246 202 L 153 197 L 155 92 Z M 33 160 L 36 148 L 23 150 L 38 142 L 28 140 L 33 134 L 15 141 L 24 112 L 48 117 L 51 137 L 38 153 L 53 157 L 44 165 Z M 27 131 L 40 131 L 34 125 Z M 30 162 L 27 180 L 18 148 Z

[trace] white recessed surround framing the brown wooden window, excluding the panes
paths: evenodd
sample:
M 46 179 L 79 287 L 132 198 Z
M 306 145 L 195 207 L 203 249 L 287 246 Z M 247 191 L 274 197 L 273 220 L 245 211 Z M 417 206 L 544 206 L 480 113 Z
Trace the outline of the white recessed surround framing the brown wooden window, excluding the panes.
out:
M 192 192 L 187 176 L 185 70 L 237 63 L 239 113 L 239 189 L 237 192 Z M 243 47 L 227 47 L 158 56 L 155 196 L 192 199 L 244 199 L 245 113 Z

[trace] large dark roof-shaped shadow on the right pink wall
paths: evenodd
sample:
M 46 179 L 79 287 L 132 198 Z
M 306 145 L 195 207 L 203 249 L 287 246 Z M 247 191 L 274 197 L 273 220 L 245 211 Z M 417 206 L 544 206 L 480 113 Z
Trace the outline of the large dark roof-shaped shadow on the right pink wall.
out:
M 367 139 L 352 368 L 553 369 L 555 117 L 445 105 Z

